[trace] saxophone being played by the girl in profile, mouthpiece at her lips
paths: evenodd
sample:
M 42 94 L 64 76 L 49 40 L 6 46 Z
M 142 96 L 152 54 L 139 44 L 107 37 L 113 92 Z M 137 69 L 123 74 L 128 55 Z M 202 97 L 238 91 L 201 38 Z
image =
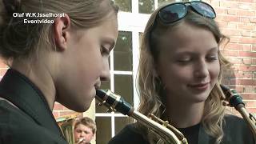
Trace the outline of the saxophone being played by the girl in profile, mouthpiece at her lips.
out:
M 110 90 L 96 90 L 96 98 L 110 110 L 118 111 L 136 119 L 138 122 L 142 122 L 150 130 L 158 134 L 164 142 L 169 144 L 187 144 L 184 135 L 174 128 L 174 126 L 155 117 L 154 114 L 149 114 L 150 118 L 148 118 L 146 115 L 139 113 L 120 95 L 114 94 Z

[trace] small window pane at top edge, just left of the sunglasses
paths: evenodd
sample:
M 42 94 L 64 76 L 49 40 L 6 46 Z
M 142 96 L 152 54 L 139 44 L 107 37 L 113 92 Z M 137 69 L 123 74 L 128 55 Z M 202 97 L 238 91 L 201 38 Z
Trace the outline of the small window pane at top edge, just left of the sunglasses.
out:
M 154 11 L 154 0 L 138 0 L 138 12 L 151 14 Z

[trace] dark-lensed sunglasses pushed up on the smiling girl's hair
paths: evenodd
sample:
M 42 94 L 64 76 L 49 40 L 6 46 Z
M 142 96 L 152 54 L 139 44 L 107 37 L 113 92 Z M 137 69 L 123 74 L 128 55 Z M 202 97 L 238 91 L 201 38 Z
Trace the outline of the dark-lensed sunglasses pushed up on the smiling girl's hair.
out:
M 188 8 L 206 18 L 216 17 L 214 8 L 208 3 L 200 1 L 171 3 L 159 10 L 158 17 L 164 24 L 177 22 L 186 16 Z

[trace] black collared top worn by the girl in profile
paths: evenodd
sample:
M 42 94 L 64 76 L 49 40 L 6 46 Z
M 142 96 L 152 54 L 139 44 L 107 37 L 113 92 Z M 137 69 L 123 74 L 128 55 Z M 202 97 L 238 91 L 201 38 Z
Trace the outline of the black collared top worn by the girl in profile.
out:
M 42 92 L 18 71 L 0 82 L 0 144 L 66 144 Z M 17 107 L 15 107 L 17 106 Z

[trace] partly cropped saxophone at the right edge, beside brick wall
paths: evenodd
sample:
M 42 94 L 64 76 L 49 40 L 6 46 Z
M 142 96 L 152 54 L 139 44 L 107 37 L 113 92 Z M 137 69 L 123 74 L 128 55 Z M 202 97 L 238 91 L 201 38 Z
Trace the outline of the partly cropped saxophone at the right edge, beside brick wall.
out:
M 256 140 L 256 118 L 253 114 L 246 111 L 246 105 L 242 102 L 242 97 L 234 89 L 230 89 L 227 86 L 220 85 L 224 95 L 226 96 L 226 101 L 229 102 L 228 106 L 234 107 L 242 115 L 242 118 L 246 121 L 250 130 L 254 134 L 254 139 Z

